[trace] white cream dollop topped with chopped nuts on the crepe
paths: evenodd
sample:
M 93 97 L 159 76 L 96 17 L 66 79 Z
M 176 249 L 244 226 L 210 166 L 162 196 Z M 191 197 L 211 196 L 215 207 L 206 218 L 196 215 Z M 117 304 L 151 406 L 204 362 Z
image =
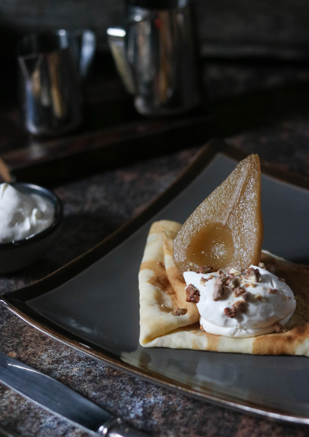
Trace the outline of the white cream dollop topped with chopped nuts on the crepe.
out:
M 191 291 L 194 296 L 194 291 L 195 295 L 196 289 L 199 291 L 195 302 L 204 331 L 227 337 L 252 337 L 279 331 L 288 323 L 296 301 L 283 279 L 257 266 L 243 272 L 232 268 L 228 272 L 184 272 L 187 295 Z

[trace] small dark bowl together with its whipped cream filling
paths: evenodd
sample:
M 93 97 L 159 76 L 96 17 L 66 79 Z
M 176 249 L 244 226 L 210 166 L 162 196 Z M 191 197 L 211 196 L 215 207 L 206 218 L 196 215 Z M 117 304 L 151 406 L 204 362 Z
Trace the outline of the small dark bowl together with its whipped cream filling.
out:
M 26 267 L 49 249 L 63 219 L 60 199 L 27 183 L 0 184 L 0 273 Z

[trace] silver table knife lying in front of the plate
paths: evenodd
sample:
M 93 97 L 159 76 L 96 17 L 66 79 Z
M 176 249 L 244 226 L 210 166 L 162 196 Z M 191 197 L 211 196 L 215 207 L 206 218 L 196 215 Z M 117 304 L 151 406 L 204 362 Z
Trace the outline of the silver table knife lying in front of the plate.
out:
M 103 436 L 147 437 L 61 382 L 1 353 L 0 382 L 52 413 Z

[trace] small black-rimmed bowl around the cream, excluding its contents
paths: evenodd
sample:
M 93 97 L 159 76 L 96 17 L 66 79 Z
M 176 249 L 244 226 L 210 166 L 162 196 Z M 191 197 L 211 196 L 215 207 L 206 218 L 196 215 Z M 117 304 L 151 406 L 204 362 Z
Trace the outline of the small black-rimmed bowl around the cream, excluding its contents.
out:
M 22 269 L 42 257 L 57 238 L 63 218 L 62 203 L 51 191 L 22 182 L 11 185 L 21 193 L 38 194 L 51 201 L 55 208 L 55 216 L 52 224 L 38 234 L 10 243 L 0 243 L 0 273 Z

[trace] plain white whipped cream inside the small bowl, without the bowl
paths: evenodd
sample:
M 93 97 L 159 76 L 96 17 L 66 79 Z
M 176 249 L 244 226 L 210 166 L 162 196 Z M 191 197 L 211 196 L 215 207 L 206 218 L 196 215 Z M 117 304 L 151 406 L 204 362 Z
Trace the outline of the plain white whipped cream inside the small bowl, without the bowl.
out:
M 48 228 L 54 219 L 52 202 L 0 184 L 0 243 L 21 240 Z

